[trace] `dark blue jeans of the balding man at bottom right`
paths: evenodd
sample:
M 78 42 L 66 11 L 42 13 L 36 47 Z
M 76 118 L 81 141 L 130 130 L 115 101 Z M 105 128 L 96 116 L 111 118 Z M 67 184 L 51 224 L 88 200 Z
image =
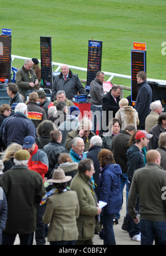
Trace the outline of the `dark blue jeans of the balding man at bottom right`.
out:
M 153 245 L 155 235 L 158 245 L 166 245 L 166 221 L 140 220 L 141 245 Z

